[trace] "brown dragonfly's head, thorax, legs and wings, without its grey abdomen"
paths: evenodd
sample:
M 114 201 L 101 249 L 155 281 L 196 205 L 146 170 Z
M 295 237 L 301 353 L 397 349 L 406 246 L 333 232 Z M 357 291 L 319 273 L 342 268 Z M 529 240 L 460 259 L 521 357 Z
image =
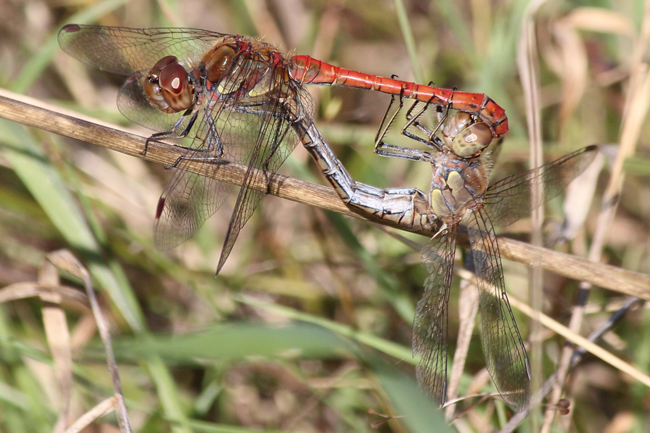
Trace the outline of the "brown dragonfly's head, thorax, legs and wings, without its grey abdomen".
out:
M 503 400 L 515 411 L 530 399 L 530 365 L 505 291 L 503 268 L 495 225 L 508 226 L 559 195 L 582 173 L 597 154 L 589 146 L 541 167 L 506 177 L 488 186 L 492 169 L 493 137 L 489 126 L 473 114 L 438 112 L 436 128 L 424 125 L 419 102 L 406 112 L 402 135 L 432 152 L 397 146 L 386 141 L 386 133 L 403 108 L 389 116 L 391 104 L 379 128 L 375 152 L 431 164 L 432 181 L 425 203 L 421 191 L 413 190 L 418 203 L 402 207 L 401 221 L 408 228 L 424 228 L 435 235 L 422 248 L 422 261 L 429 273 L 413 323 L 412 348 L 420 356 L 416 376 L 420 385 L 443 405 L 447 379 L 447 321 L 453 278 L 456 236 L 467 230 L 479 290 L 481 335 L 486 366 Z M 419 108 L 416 108 L 420 104 Z M 538 182 L 540 189 L 532 188 Z M 391 218 L 400 220 L 399 212 Z

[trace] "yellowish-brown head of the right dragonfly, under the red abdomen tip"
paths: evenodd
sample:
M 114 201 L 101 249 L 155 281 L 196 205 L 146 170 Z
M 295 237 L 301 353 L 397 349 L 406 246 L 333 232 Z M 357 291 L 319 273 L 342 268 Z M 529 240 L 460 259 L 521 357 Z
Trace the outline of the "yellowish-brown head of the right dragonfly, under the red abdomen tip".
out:
M 492 142 L 492 131 L 468 113 L 458 113 L 447 120 L 442 128 L 447 147 L 461 158 L 473 158 L 481 154 Z

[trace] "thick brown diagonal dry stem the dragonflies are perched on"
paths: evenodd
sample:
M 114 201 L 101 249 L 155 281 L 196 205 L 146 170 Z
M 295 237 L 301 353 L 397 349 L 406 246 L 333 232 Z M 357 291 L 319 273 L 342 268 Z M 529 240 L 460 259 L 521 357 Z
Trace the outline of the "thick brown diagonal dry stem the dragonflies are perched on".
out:
M 21 102 L 21 100 L 29 102 Z M 43 105 L 45 104 L 32 98 L 0 89 L 0 117 L 2 118 L 116 150 L 127 155 L 144 158 L 165 166 L 173 164 L 183 154 L 182 149 L 175 146 L 150 143 L 149 151 L 143 156 L 142 150 L 146 141 L 144 137 L 102 125 L 96 121 L 82 120 L 80 117 L 65 115 L 60 112 L 60 109 L 54 107 L 48 110 L 42 108 Z M 75 114 L 75 116 L 78 115 Z M 185 168 L 203 175 L 206 175 L 208 171 L 213 172 L 207 170 L 206 164 L 201 162 L 192 162 L 186 165 Z M 245 172 L 246 167 L 244 166 L 225 164 L 222 169 L 216 171 L 213 175 L 221 181 L 241 185 Z M 263 176 L 260 176 L 260 178 L 263 178 Z M 366 215 L 352 212 L 341 202 L 341 199 L 330 187 L 281 175 L 275 175 L 271 179 L 268 189 L 266 185 L 261 183 L 252 185 L 252 187 L 308 206 L 407 230 L 405 227 L 390 224 L 385 220 L 375 220 Z M 434 234 L 427 230 L 417 231 L 417 233 L 427 237 Z M 458 241 L 461 245 L 469 245 L 467 239 L 463 238 L 463 236 L 458 236 Z M 650 301 L 650 276 L 648 275 L 602 263 L 593 263 L 580 257 L 534 247 L 508 238 L 500 237 L 498 242 L 501 256 L 508 260 L 526 265 L 536 264 L 542 269 L 567 278 L 587 281 L 599 287 Z

